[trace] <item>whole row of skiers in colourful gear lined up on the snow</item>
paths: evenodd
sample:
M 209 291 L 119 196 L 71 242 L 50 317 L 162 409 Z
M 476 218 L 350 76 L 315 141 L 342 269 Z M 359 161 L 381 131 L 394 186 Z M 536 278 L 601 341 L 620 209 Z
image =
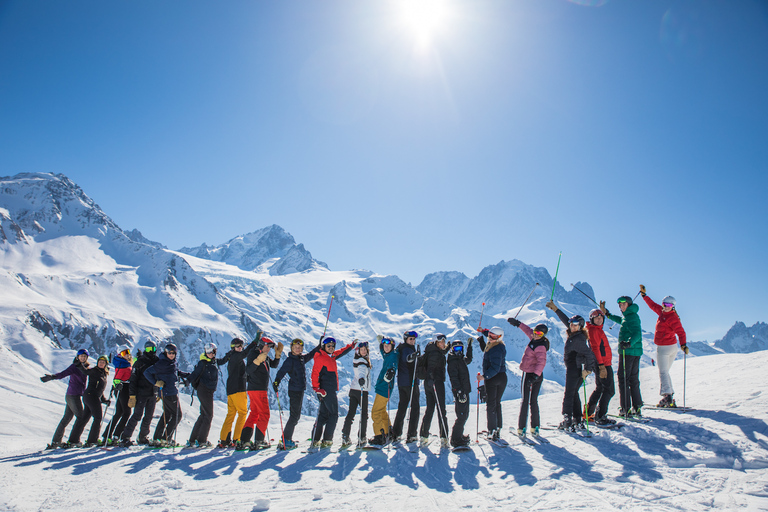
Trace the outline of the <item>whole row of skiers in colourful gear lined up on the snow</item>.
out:
M 640 294 L 659 316 L 654 336 L 654 342 L 658 346 L 657 361 L 662 395 L 658 406 L 675 407 L 669 369 L 677 353 L 676 337 L 682 350 L 688 353 L 685 331 L 675 310 L 673 297 L 665 297 L 662 304 L 658 305 L 646 295 L 643 285 L 640 286 Z M 566 328 L 563 349 L 566 367 L 563 421 L 559 427 L 563 430 L 585 428 L 587 421 L 594 421 L 598 426 L 615 423 L 608 417 L 608 407 L 615 386 L 611 347 L 603 332 L 606 318 L 621 325 L 618 335 L 621 402 L 619 415 L 631 417 L 642 414 L 639 367 L 643 349 L 638 306 L 629 296 L 622 296 L 617 302 L 621 316 L 612 315 L 606 309 L 605 302 L 601 302 L 599 309 L 590 313 L 589 322 L 580 315 L 569 318 L 554 302 L 547 303 L 547 307 L 555 312 Z M 522 330 L 529 339 L 520 362 L 523 372 L 522 403 L 517 434 L 527 434 L 530 411 L 530 432 L 538 436 L 541 428 L 538 395 L 550 348 L 546 337 L 549 328 L 544 323 L 531 328 L 516 318 L 509 318 L 508 321 Z M 482 371 L 477 374 L 477 392 L 486 402 L 487 437 L 493 442 L 503 442 L 500 438 L 503 426 L 501 399 L 507 387 L 504 332 L 500 327 L 478 328 L 478 331 L 477 342 L 483 353 L 483 361 Z M 449 342 L 444 334 L 437 333 L 422 353 L 416 344 L 417 337 L 418 334 L 413 330 L 406 331 L 403 341 L 399 344 L 392 338 L 377 337 L 383 363 L 375 384 L 371 375 L 371 347 L 368 342 L 358 343 L 357 340 L 337 350 L 336 339 L 321 337 L 316 347 L 304 353 L 303 340 L 293 339 L 288 356 L 280 366 L 283 344 L 274 343 L 259 332 L 247 346 L 243 340 L 233 339 L 230 350 L 221 358 L 217 358 L 217 347 L 214 343 L 206 344 L 195 368 L 189 373 L 178 368 L 177 347 L 173 343 L 167 344 L 158 356 L 156 343 L 147 341 L 135 361 L 129 347 L 123 345 L 112 358 L 115 375 L 109 398 L 104 397 L 109 380 L 107 357 L 99 357 L 96 366 L 91 367 L 88 363 L 88 351 L 81 349 L 73 363 L 64 371 L 41 377 L 43 382 L 69 377 L 64 417 L 49 446 L 82 446 L 80 437 L 91 419 L 93 424 L 86 446 L 130 446 L 133 444 L 131 439 L 139 422 L 141 427 L 137 437 L 138 444 L 175 445 L 176 427 L 182 417 L 177 387 L 179 382 L 191 385 L 200 402 L 200 415 L 187 445 L 212 446 L 208 436 L 213 420 L 214 394 L 219 381 L 218 367 L 226 365 L 227 415 L 221 428 L 218 446 L 234 446 L 241 449 L 261 449 L 269 446 L 266 431 L 270 418 L 267 393 L 272 387 L 279 403 L 279 385 L 287 376 L 290 413 L 284 427 L 281 418 L 282 432 L 278 448 L 292 449 L 297 446 L 293 437 L 301 417 L 306 392 L 306 365 L 312 362 L 310 382 L 312 391 L 318 398 L 319 409 L 312 429 L 311 442 L 314 447 L 329 447 L 333 444 L 339 419 L 337 360 L 354 350 L 354 377 L 349 390 L 349 408 L 342 427 L 342 447 L 353 443 L 371 447 L 380 447 L 396 441 L 427 443 L 435 413 L 441 444 L 457 449 L 465 447 L 469 444 L 469 436 L 464 434 L 464 425 L 469 417 L 469 397 L 472 393 L 468 365 L 472 362 L 472 345 L 475 338 L 469 337 L 466 344 L 461 340 Z M 272 378 L 270 370 L 278 366 L 279 369 Z M 582 408 L 579 389 L 586 377 L 593 372 L 596 374 L 595 390 Z M 455 422 L 450 429 L 446 414 L 446 376 L 451 384 L 456 413 Z M 366 441 L 372 384 L 375 393 L 370 412 L 373 437 Z M 392 424 L 388 403 L 395 385 L 398 387 L 399 403 Z M 422 386 L 426 408 L 419 428 Z M 113 395 L 116 395 L 117 400 L 115 413 L 99 440 L 101 405 L 106 403 L 109 406 Z M 150 423 L 155 405 L 160 402 L 162 414 L 150 439 Z M 358 408 L 360 422 L 358 432 L 353 438 L 352 424 Z M 73 418 L 76 419 L 75 426 L 68 442 L 64 443 L 64 430 Z

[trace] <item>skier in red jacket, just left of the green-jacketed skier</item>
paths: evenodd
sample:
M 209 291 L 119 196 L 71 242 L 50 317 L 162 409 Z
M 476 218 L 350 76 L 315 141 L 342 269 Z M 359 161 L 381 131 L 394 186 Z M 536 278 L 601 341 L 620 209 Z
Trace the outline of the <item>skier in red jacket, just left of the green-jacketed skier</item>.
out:
M 587 414 L 594 417 L 596 425 L 611 425 L 616 423 L 608 417 L 608 405 L 616 394 L 616 386 L 613 382 L 613 367 L 611 366 L 611 345 L 605 336 L 603 326 L 605 315 L 599 309 L 593 309 L 589 313 L 589 346 L 597 359 L 597 375 L 595 376 L 595 390 L 587 402 Z

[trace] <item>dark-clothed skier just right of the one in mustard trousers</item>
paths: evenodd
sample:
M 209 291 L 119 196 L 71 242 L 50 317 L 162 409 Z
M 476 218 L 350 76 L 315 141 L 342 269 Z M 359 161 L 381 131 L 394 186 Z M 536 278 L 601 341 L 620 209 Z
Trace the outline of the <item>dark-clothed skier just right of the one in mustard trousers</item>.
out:
M 416 432 L 419 428 L 419 379 L 414 378 L 416 372 L 416 360 L 421 353 L 416 348 L 416 331 L 403 333 L 403 342 L 395 349 L 398 353 L 397 363 L 397 387 L 400 393 L 400 401 L 397 404 L 395 423 L 392 426 L 392 438 L 400 439 L 403 435 L 405 415 L 410 408 L 408 416 L 408 431 L 405 440 L 407 443 L 417 441 Z

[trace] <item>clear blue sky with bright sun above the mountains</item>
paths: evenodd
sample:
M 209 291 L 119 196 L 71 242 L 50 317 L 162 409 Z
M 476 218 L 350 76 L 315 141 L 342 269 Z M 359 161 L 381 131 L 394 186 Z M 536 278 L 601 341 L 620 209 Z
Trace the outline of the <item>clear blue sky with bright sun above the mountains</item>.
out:
M 768 320 L 767 55 L 758 0 L 5 0 L 0 174 L 414 285 L 562 251 L 713 340 Z

